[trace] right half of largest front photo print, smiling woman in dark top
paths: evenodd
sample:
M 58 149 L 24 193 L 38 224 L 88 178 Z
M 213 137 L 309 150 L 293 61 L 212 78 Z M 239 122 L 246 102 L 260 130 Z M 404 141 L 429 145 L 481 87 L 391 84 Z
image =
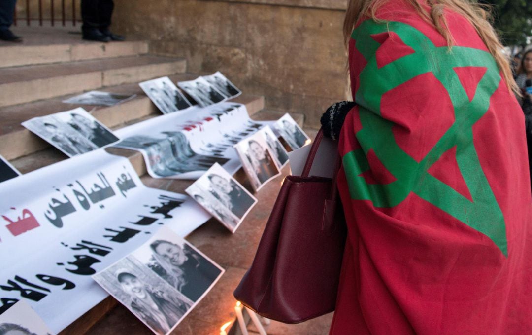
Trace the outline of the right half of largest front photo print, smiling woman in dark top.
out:
M 162 227 L 131 255 L 193 303 L 200 301 L 224 272 L 168 227 Z

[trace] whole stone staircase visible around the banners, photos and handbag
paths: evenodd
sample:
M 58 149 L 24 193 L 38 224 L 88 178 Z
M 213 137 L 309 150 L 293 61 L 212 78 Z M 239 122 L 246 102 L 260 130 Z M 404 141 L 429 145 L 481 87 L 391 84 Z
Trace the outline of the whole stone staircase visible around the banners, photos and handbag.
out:
M 176 82 L 198 76 L 187 73 L 185 60 L 149 54 L 148 43 L 143 41 L 109 44 L 82 42 L 80 35 L 71 34 L 68 29 L 62 28 L 24 28 L 15 32 L 24 37 L 22 44 L 0 42 L 0 154 L 21 173 L 67 158 L 22 127 L 21 122 L 83 107 L 107 127 L 118 129 L 161 115 L 138 86 L 140 81 L 169 76 Z M 61 102 L 92 89 L 137 96 L 114 107 Z M 234 101 L 244 103 L 254 119 L 271 120 L 284 114 L 263 110 L 262 96 L 246 95 L 246 88 L 240 89 L 244 94 Z M 292 116 L 303 126 L 303 115 Z M 311 137 L 315 135 L 313 130 L 307 130 L 307 133 Z M 106 150 L 127 157 L 147 186 L 184 193 L 190 184 L 189 181 L 149 177 L 144 159 L 136 151 L 118 148 Z M 284 174 L 287 173 L 288 168 L 285 168 Z M 239 180 L 245 179 L 242 171 L 236 177 Z M 179 325 L 177 333 L 216 333 L 222 323 L 229 317 L 234 317 L 232 290 L 251 264 L 278 190 L 279 183 L 272 182 L 257 194 L 259 204 L 235 234 L 227 233 L 217 222 L 210 220 L 188 236 L 190 242 L 225 267 L 227 273 Z M 306 334 L 320 327 L 319 332 L 325 333 L 330 316 L 317 320 L 288 329 L 282 328 L 285 325 L 279 327 L 282 329 L 281 333 Z M 147 328 L 135 316 L 113 298 L 107 298 L 72 323 L 62 334 L 116 333 L 118 329 L 125 330 L 126 325 L 132 333 L 148 333 Z

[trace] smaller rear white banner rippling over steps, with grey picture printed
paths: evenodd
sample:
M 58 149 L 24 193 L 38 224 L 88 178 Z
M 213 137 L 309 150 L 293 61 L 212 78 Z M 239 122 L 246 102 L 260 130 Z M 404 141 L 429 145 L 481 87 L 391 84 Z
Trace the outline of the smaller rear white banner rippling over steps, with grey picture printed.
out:
M 124 127 L 115 146 L 142 152 L 154 178 L 196 179 L 215 163 L 232 174 L 241 166 L 233 146 L 268 124 L 250 119 L 243 104 L 223 102 Z

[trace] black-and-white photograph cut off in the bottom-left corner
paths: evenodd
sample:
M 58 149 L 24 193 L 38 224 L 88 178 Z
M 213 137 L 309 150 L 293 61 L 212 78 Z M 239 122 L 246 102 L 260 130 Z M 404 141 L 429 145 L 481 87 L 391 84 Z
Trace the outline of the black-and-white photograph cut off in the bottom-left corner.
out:
M 26 300 L 19 300 L 0 314 L 0 335 L 51 335 L 43 319 Z

